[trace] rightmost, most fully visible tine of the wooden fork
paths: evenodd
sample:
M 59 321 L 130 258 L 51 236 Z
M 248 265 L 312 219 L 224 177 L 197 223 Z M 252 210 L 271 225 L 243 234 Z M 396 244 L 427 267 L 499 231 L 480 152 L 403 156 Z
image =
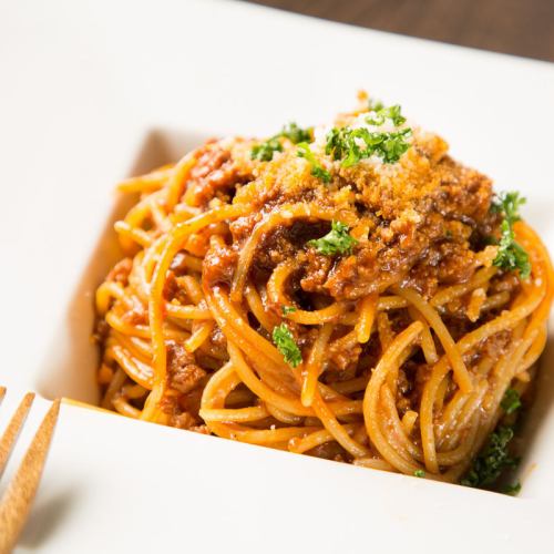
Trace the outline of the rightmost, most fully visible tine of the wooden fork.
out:
M 0 554 L 11 552 L 27 521 L 47 461 L 59 411 L 60 400 L 54 400 L 0 502 Z

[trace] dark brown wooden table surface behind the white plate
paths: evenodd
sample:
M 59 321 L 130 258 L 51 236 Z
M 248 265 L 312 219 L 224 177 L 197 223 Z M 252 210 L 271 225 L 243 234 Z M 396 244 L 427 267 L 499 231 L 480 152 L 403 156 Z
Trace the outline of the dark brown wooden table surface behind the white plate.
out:
M 253 0 L 382 31 L 554 61 L 554 0 Z

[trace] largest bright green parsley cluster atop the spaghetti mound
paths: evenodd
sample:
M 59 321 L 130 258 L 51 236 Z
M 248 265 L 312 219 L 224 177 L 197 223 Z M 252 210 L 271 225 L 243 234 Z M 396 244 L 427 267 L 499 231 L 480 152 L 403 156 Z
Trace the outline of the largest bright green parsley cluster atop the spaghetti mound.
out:
M 407 142 L 410 135 L 411 129 L 372 133 L 365 127 L 335 127 L 327 135 L 325 153 L 334 160 L 342 160 L 342 167 L 350 167 L 373 154 L 386 164 L 392 164 L 410 147 Z

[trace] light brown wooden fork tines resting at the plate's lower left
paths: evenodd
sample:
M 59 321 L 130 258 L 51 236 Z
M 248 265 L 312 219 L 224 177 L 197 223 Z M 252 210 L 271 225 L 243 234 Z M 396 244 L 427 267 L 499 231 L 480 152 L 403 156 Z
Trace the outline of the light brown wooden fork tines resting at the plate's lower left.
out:
M 0 387 L 0 401 L 4 396 L 6 388 Z M 23 397 L 0 439 L 0 478 L 33 400 L 33 392 L 28 392 Z M 8 554 L 12 551 L 27 521 L 39 488 L 59 411 L 60 400 L 54 400 L 0 501 L 0 554 Z

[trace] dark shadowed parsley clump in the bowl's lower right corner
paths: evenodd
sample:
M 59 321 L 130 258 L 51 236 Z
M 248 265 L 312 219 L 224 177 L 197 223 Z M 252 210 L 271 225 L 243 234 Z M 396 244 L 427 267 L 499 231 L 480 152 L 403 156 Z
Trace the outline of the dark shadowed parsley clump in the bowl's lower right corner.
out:
M 520 460 L 510 455 L 507 447 L 513 439 L 511 427 L 499 427 L 492 434 L 486 447 L 475 458 L 471 470 L 460 484 L 465 486 L 492 485 L 509 468 L 515 468 Z

